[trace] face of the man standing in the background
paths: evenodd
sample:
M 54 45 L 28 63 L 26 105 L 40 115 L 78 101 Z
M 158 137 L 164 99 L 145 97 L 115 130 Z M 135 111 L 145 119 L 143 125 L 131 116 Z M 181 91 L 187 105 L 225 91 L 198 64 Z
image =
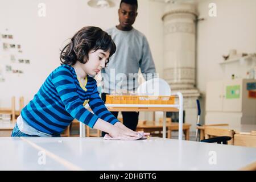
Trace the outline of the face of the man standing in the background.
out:
M 135 22 L 137 16 L 137 6 L 122 3 L 120 9 L 118 10 L 119 15 L 119 25 L 123 30 L 130 29 Z

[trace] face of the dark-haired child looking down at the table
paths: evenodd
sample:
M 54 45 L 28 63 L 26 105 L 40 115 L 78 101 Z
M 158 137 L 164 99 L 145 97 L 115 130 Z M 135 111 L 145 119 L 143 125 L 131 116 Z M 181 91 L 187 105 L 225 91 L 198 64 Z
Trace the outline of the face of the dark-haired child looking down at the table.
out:
M 83 65 L 83 70 L 85 73 L 91 76 L 97 75 L 98 72 L 101 71 L 102 68 L 105 68 L 105 64 L 109 59 L 109 51 L 103 51 L 102 49 L 98 49 L 97 51 L 92 50 L 89 52 L 89 59 Z

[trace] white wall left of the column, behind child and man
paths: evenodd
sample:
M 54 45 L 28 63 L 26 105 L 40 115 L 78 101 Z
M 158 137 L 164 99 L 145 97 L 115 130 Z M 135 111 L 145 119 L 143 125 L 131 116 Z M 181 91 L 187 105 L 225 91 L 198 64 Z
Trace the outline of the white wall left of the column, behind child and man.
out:
M 110 9 L 92 9 L 85 0 L 1 0 L 0 33 L 13 34 L 13 42 L 22 46 L 19 58 L 30 59 L 30 65 L 16 64 L 24 74 L 7 74 L 0 82 L 0 107 L 10 107 L 11 96 L 24 96 L 25 104 L 32 99 L 46 77 L 60 65 L 59 49 L 84 26 L 107 29 L 118 24 L 117 5 Z M 38 16 L 38 4 L 46 4 L 46 17 Z M 162 3 L 138 1 L 134 27 L 147 36 L 158 72 L 162 72 Z M 4 40 L 0 38 L 1 46 Z M 8 52 L 0 46 L 0 65 L 10 64 Z M 2 69 L 5 69 L 2 68 Z M 18 101 L 18 98 L 16 98 Z M 16 103 L 16 108 L 18 103 Z

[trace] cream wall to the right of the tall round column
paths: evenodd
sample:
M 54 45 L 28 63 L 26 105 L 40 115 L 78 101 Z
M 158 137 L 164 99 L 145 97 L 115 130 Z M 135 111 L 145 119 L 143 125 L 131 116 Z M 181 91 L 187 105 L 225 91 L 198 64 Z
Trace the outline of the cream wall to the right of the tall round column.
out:
M 217 16 L 209 17 L 209 3 L 216 3 Z M 208 81 L 224 77 L 222 55 L 230 49 L 238 52 L 256 52 L 255 0 L 198 1 L 200 21 L 197 26 L 197 88 L 203 93 L 202 110 L 205 111 L 205 90 Z M 239 69 L 239 68 L 238 68 Z

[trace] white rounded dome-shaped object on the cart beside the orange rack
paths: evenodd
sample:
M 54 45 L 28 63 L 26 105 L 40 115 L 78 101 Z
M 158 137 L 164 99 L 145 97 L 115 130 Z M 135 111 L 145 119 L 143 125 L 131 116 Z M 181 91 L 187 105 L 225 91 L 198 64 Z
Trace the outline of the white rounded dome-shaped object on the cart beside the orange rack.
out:
M 171 96 L 171 88 L 162 78 L 153 78 L 139 85 L 137 94 L 140 96 Z

